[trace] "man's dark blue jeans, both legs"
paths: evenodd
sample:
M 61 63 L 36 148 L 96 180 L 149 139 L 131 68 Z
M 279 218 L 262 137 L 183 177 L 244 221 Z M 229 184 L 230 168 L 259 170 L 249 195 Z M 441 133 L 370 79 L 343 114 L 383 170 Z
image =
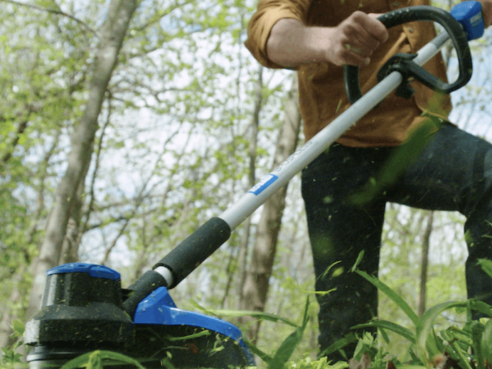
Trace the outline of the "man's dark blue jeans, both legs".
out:
M 302 172 L 316 290 L 332 290 L 317 295 L 321 351 L 351 332 L 351 326 L 377 316 L 377 289 L 349 269 L 364 250 L 358 268 L 377 276 L 386 202 L 464 214 L 468 297 L 492 304 L 492 280 L 477 264 L 477 259 L 492 259 L 491 143 L 444 124 L 394 183 L 369 202 L 354 205 L 351 195 L 377 178 L 395 150 L 335 144 Z M 347 347 L 349 357 L 354 349 L 355 344 Z

